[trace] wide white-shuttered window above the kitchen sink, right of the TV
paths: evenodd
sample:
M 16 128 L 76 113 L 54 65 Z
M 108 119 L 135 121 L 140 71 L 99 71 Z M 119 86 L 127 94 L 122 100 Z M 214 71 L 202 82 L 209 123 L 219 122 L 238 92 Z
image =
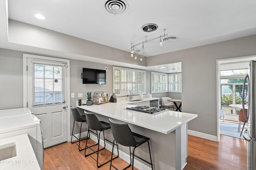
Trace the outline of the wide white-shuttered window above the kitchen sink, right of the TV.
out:
M 131 90 L 133 94 L 146 94 L 146 71 L 113 67 L 113 92 L 126 96 Z

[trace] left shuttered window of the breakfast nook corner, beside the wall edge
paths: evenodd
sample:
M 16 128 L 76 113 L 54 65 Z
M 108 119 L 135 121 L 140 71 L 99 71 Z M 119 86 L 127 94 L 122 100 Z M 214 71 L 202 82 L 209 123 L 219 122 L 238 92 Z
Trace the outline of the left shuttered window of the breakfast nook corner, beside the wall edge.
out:
M 151 93 L 168 92 L 168 74 L 151 72 Z

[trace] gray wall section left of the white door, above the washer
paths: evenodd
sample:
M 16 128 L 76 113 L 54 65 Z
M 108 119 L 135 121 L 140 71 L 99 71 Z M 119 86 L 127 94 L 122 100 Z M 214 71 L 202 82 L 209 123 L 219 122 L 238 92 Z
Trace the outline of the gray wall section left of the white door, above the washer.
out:
M 0 49 L 0 110 L 23 107 L 22 52 Z

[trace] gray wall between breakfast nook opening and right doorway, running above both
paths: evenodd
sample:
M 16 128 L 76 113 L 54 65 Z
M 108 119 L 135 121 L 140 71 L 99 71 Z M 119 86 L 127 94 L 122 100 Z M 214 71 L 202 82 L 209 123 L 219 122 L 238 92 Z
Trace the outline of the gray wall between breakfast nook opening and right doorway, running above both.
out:
M 256 35 L 148 57 L 147 64 L 182 62 L 182 111 L 198 114 L 188 129 L 216 136 L 216 61 L 250 55 L 256 55 Z

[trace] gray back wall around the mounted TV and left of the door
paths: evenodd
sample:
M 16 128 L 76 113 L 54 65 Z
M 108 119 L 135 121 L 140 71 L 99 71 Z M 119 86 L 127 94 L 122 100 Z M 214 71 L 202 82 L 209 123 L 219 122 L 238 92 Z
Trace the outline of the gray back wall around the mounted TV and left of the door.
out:
M 37 54 L 40 55 L 40 54 Z M 51 56 L 48 56 L 51 57 Z M 15 109 L 23 107 L 23 52 L 9 49 L 0 49 L 0 110 Z M 106 72 L 106 84 L 82 84 L 82 68 L 95 68 Z M 104 94 L 112 94 L 112 65 L 93 63 L 80 60 L 70 60 L 70 93 L 75 93 L 75 98 L 70 98 L 70 106 L 75 107 L 78 93 L 83 93 L 82 100 L 86 100 L 84 95 L 87 91 L 92 93 L 103 91 Z M 150 71 L 146 72 L 147 93 L 150 93 Z M 180 93 L 179 93 L 180 94 Z M 153 97 L 171 97 L 169 93 L 153 94 Z M 181 96 L 181 94 L 180 94 Z M 174 97 L 172 97 L 174 98 Z M 178 98 L 178 97 L 175 97 Z M 161 103 L 161 102 L 160 102 Z M 81 110 L 82 113 L 82 110 Z M 71 113 L 72 114 L 72 113 Z M 70 125 L 72 128 L 73 117 L 71 116 Z M 83 125 L 83 130 L 86 124 Z M 76 133 L 79 126 L 76 125 Z M 72 129 L 71 129 L 72 130 Z

